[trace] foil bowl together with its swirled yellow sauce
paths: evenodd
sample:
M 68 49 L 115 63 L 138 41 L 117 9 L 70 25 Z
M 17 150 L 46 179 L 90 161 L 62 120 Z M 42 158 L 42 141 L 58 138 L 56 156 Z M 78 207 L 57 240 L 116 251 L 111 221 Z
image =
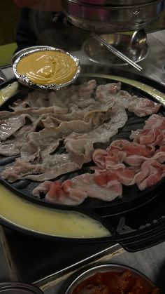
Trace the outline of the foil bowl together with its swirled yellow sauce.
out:
M 77 79 L 80 62 L 58 48 L 34 48 L 15 60 L 13 72 L 27 86 L 58 90 Z

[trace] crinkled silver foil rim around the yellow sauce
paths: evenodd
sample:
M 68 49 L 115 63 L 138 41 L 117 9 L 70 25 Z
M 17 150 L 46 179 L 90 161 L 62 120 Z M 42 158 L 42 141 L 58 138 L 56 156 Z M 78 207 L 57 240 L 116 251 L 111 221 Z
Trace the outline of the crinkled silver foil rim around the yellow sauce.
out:
M 75 62 L 78 67 L 76 74 L 73 76 L 73 79 L 70 81 L 67 81 L 66 83 L 51 83 L 51 84 L 38 84 L 38 83 L 33 83 L 30 81 L 30 79 L 25 75 L 25 74 L 19 74 L 17 72 L 17 64 L 20 62 L 20 60 L 24 57 L 26 57 L 29 54 L 36 53 L 39 51 L 59 51 L 61 53 L 65 53 L 69 55 Z M 55 47 L 49 47 L 49 46 L 36 46 L 35 47 L 29 47 L 27 50 L 23 50 L 16 53 L 16 58 L 13 56 L 13 72 L 15 74 L 15 77 L 17 78 L 20 83 L 22 83 L 24 86 L 29 86 L 31 88 L 36 88 L 36 89 L 44 89 L 44 90 L 59 90 L 60 88 L 64 88 L 66 86 L 69 86 L 71 83 L 76 81 L 80 74 L 80 60 L 76 58 L 75 56 L 71 55 L 69 52 L 66 52 L 62 49 L 55 48 Z

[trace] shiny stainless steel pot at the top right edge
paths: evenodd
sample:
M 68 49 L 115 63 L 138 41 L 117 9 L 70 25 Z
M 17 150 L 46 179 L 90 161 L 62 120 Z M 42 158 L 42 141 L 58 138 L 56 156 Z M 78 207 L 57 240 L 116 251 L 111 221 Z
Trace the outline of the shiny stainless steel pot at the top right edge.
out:
M 99 5 L 95 4 L 96 0 L 62 0 L 62 6 L 66 17 L 73 25 L 104 33 L 145 28 L 155 22 L 164 9 L 164 0 L 141 0 L 145 1 L 145 4 L 136 6 L 122 6 L 122 1 L 121 6 L 113 6 L 109 4 L 113 3 L 113 0 L 108 0 L 108 4 L 106 0 L 100 0 Z M 134 3 L 134 0 L 129 1 Z

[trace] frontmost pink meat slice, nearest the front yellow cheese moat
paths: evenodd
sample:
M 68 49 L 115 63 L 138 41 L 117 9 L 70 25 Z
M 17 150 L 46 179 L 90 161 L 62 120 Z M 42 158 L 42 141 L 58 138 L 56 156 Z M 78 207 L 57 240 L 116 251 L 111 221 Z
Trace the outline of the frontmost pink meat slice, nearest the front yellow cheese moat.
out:
M 106 185 L 97 185 L 94 175 L 85 173 L 65 182 L 43 182 L 33 191 L 34 196 L 43 192 L 45 200 L 65 205 L 79 205 L 87 196 L 103 201 L 112 201 L 122 195 L 122 185 L 115 179 Z

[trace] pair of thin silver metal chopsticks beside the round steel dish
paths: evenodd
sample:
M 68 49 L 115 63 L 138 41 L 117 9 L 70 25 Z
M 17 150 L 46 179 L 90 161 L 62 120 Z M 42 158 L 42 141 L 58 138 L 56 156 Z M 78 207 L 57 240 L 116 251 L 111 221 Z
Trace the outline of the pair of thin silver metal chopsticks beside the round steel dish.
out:
M 111 51 L 111 52 L 113 52 L 113 54 L 117 55 L 117 57 L 119 57 L 122 60 L 128 62 L 129 65 L 132 65 L 133 67 L 135 67 L 136 69 L 138 69 L 141 72 L 142 67 L 140 67 L 140 65 L 137 65 L 136 62 L 134 62 L 133 60 L 129 59 L 126 55 L 124 55 L 120 51 L 117 51 L 116 48 L 114 48 L 113 46 L 111 46 L 110 44 L 108 44 L 104 39 L 102 39 L 97 34 L 92 33 L 92 36 L 93 36 L 94 39 L 96 39 L 97 41 L 100 41 L 101 44 L 103 44 L 104 46 L 106 46 L 106 48 L 108 48 L 109 51 Z

